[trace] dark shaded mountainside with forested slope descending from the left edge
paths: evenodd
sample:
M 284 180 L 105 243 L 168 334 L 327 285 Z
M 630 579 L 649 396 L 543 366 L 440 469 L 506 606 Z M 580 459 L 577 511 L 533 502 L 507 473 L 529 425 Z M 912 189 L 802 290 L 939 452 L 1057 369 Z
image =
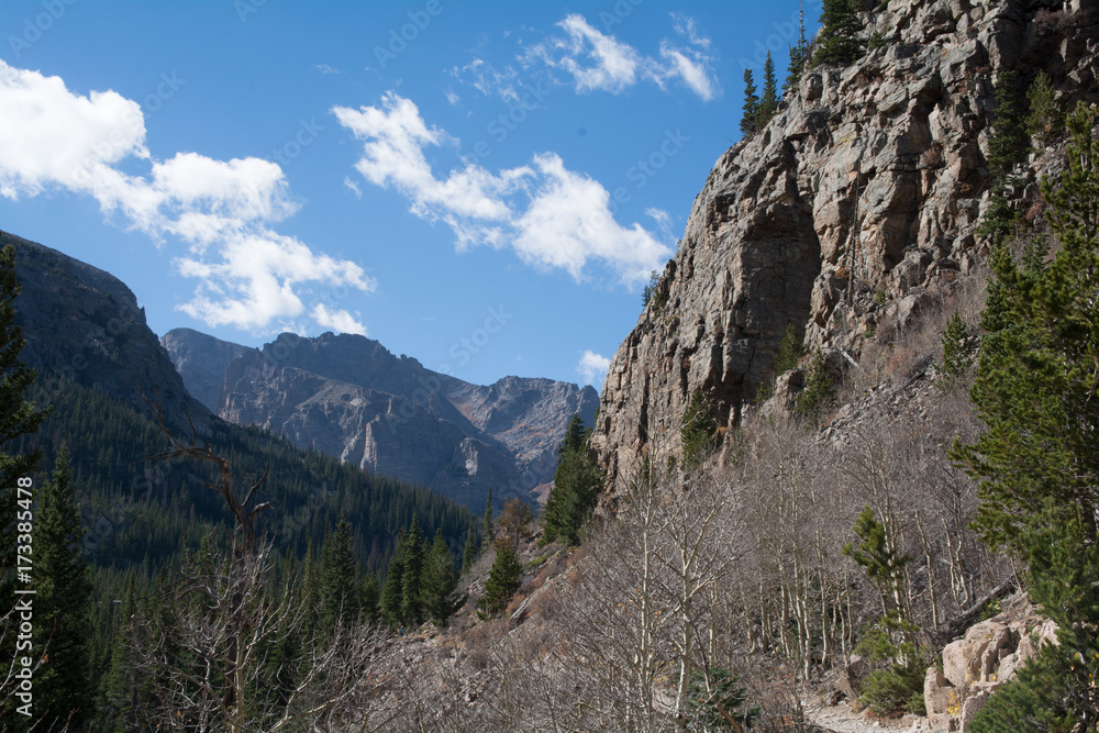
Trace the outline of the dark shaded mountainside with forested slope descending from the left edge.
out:
M 443 529 L 457 554 L 474 515 L 423 486 L 356 468 L 255 427 L 212 415 L 185 389 L 167 352 L 145 323 L 133 292 L 118 278 L 49 247 L 0 233 L 15 247 L 22 290 L 16 323 L 21 358 L 37 370 L 31 399 L 53 410 L 22 448 L 41 447 L 44 480 L 62 445 L 71 453 L 77 502 L 89 529 L 82 541 L 99 567 L 140 565 L 147 576 L 193 549 L 210 527 L 227 525 L 224 502 L 206 484 L 209 466 L 148 460 L 169 448 L 141 391 L 159 398 L 180 437 L 189 434 L 225 457 L 238 491 L 268 471 L 255 502 L 270 502 L 262 522 L 281 547 L 302 556 L 319 546 L 341 513 L 371 569 L 385 567 L 398 531 L 415 514 L 428 532 Z

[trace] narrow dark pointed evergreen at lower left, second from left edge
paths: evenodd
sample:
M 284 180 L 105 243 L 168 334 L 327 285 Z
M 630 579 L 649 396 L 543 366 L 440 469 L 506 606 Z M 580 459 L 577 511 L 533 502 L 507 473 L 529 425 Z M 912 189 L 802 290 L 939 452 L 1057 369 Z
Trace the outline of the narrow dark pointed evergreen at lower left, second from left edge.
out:
M 34 678 L 43 725 L 66 720 L 79 729 L 90 720 L 93 689 L 88 677 L 88 597 L 91 585 L 80 552 L 80 513 L 73 501 L 68 449 L 62 447 L 53 479 L 42 487 L 34 526 L 36 646 L 46 659 Z M 71 715 L 71 718 L 70 718 Z

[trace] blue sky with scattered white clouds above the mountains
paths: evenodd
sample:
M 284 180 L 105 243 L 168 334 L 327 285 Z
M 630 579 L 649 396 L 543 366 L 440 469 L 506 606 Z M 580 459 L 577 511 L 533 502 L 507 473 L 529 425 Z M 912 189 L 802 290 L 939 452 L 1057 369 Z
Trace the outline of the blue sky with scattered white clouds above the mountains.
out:
M 598 388 L 797 12 L 4 0 L 0 229 L 114 274 L 158 334 L 358 332 Z

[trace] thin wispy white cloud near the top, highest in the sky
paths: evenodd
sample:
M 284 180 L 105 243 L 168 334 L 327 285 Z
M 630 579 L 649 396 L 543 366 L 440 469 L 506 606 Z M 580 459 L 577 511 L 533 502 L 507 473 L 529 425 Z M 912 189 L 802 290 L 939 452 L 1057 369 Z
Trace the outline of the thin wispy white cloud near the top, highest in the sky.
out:
M 582 15 L 569 14 L 557 26 L 565 36 L 551 36 L 531 46 L 521 57 L 528 66 L 542 63 L 571 76 L 576 91 L 622 92 L 642 79 L 662 89 L 681 80 L 703 101 L 721 93 L 709 53 L 710 38 L 702 36 L 693 19 L 673 13 L 673 29 L 687 45 L 660 42 L 659 56 L 645 56 L 633 46 L 592 27 Z M 559 82 L 559 81 L 558 81 Z

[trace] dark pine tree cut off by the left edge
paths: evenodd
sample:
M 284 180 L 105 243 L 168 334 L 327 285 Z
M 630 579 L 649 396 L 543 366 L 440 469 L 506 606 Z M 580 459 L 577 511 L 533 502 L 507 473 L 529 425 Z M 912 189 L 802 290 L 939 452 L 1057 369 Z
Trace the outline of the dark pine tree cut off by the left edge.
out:
M 10 452 L 13 440 L 34 433 L 46 418 L 33 402 L 25 399 L 26 391 L 34 382 L 35 373 L 19 359 L 25 340 L 15 325 L 15 298 L 20 285 L 15 277 L 15 248 L 11 245 L 0 249 L 0 675 L 7 678 L 15 655 L 18 613 L 9 613 L 15 604 L 15 540 L 19 523 L 12 520 L 22 509 L 18 503 L 18 488 L 30 488 L 31 471 L 42 457 L 41 452 L 27 454 Z M 35 653 L 38 649 L 34 649 Z M 22 655 L 20 655 L 22 656 Z M 24 730 L 27 719 L 15 712 L 15 698 L 10 698 L 0 709 L 0 730 Z

